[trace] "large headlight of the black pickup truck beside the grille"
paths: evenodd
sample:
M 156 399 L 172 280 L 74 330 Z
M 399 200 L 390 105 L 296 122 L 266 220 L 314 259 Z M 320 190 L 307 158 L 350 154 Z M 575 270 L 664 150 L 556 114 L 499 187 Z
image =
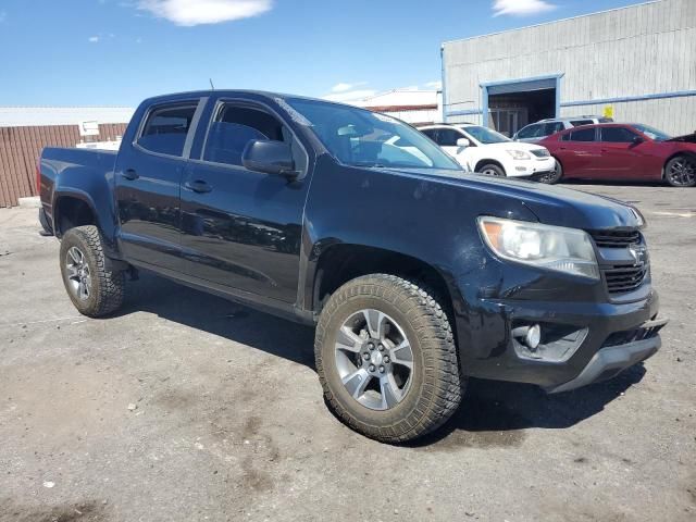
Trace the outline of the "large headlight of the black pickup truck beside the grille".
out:
M 599 279 L 595 249 L 586 232 L 487 216 L 478 217 L 478 228 L 486 245 L 504 259 Z

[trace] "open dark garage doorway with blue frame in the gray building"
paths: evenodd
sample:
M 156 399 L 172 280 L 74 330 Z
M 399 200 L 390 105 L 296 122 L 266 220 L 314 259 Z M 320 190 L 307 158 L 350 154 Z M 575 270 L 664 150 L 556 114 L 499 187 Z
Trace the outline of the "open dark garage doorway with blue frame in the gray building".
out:
M 560 75 L 481 87 L 484 125 L 509 137 L 530 123 L 557 117 L 560 112 Z

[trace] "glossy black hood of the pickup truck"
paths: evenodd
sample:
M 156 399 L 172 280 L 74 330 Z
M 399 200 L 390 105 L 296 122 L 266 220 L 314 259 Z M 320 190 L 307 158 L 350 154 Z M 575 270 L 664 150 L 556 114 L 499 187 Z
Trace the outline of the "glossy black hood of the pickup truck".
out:
M 476 190 L 486 196 L 495 195 L 508 199 L 509 204 L 500 204 L 501 209 L 510 208 L 510 201 L 515 201 L 529 209 L 540 223 L 548 225 L 586 231 L 635 228 L 642 225 L 641 214 L 630 204 L 580 190 L 459 171 L 409 169 L 398 172 L 422 175 L 435 183 L 448 184 L 461 190 Z M 492 214 L 496 213 L 495 208 L 490 211 Z

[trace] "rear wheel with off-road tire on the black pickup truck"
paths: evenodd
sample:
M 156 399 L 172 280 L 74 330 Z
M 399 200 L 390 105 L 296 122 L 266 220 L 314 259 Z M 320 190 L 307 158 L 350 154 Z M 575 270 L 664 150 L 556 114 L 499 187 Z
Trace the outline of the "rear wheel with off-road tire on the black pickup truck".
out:
M 86 266 L 90 278 L 86 296 L 80 296 L 80 291 L 76 289 L 76 284 L 79 286 L 80 283 L 79 277 L 72 273 L 76 270 L 75 266 L 69 266 L 76 252 L 83 256 L 84 263 L 80 266 Z M 96 226 L 77 226 L 65 233 L 61 241 L 60 263 L 65 290 L 79 313 L 89 318 L 100 318 L 121 308 L 125 274 L 107 270 L 103 240 Z

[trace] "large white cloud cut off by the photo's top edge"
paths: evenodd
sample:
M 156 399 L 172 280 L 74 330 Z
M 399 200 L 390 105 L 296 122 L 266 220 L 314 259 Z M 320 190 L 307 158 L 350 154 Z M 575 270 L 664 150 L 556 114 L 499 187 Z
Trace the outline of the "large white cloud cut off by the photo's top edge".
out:
M 270 11 L 272 0 L 138 0 L 138 9 L 176 25 L 220 24 Z

